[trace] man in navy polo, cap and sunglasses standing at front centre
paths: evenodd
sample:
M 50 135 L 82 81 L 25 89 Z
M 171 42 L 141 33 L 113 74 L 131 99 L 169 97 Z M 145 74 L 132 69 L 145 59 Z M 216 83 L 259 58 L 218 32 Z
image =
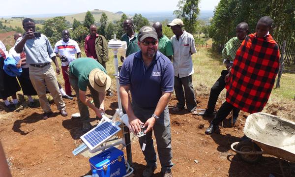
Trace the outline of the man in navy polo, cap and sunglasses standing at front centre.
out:
M 152 130 L 163 177 L 172 177 L 172 149 L 170 117 L 167 104 L 174 86 L 173 65 L 158 52 L 158 36 L 150 26 L 140 29 L 140 51 L 128 56 L 120 71 L 120 96 L 129 118 L 129 128 L 134 133 L 146 128 L 146 135 L 139 138 L 147 162 L 143 177 L 151 177 L 157 168 L 157 155 L 153 147 Z M 130 90 L 132 102 L 128 91 Z

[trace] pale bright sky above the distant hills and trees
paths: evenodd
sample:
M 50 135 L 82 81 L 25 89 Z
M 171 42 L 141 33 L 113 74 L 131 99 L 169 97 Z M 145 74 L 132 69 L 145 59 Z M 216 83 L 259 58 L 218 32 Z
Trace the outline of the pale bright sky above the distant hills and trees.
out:
M 148 3 L 147 3 L 148 2 Z M 36 14 L 81 13 L 101 9 L 124 13 L 169 12 L 178 0 L 1 0 L 0 17 Z M 214 10 L 219 0 L 201 0 L 201 10 Z M 11 7 L 11 8 L 9 8 Z

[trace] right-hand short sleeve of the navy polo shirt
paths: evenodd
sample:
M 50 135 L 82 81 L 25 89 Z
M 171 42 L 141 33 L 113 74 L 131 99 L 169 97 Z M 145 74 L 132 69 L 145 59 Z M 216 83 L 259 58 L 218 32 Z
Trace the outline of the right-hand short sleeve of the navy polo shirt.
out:
M 161 90 L 164 92 L 173 92 L 174 88 L 174 69 L 173 64 L 168 63 L 162 75 Z

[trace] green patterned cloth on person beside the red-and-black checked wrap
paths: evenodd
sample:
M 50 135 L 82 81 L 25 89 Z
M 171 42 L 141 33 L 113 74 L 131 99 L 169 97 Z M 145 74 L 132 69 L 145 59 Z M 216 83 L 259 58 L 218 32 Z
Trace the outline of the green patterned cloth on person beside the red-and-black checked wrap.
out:
M 237 37 L 231 38 L 224 46 L 222 50 L 223 59 L 234 61 L 236 57 L 236 51 L 242 44 L 243 40 L 239 40 Z

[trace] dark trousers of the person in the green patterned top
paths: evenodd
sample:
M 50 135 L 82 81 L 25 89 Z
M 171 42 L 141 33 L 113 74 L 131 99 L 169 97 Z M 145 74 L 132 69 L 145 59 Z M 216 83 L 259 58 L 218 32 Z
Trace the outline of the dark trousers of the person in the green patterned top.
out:
M 226 83 L 224 79 L 228 73 L 229 73 L 228 70 L 222 70 L 221 76 L 217 79 L 217 81 L 211 87 L 210 96 L 209 96 L 209 100 L 207 104 L 207 110 L 206 110 L 207 114 L 213 114 L 218 96 L 220 92 L 225 88 Z M 234 110 L 234 117 L 237 118 L 239 109 L 234 107 L 233 110 Z

